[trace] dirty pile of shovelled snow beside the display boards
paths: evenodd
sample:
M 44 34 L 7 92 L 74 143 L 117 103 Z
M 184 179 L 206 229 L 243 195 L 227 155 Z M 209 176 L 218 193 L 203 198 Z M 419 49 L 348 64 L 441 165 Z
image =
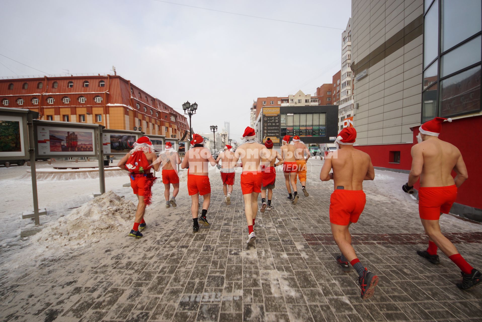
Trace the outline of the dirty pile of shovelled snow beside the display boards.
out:
M 45 248 L 71 247 L 100 240 L 100 234 L 129 230 L 137 207 L 107 191 L 54 222 L 32 237 L 34 245 Z M 106 236 L 103 236 L 105 238 Z

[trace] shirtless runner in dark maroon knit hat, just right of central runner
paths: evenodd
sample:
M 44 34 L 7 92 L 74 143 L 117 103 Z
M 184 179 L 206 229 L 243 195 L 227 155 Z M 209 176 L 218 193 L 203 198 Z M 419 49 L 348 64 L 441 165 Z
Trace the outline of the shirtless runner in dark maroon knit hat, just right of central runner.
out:
M 273 141 L 268 137 L 265 141 L 265 147 L 268 149 L 271 157 L 271 161 L 267 163 L 263 170 L 263 179 L 261 181 L 261 209 L 260 212 L 264 213 L 265 210 L 271 210 L 271 198 L 273 198 L 273 189 L 276 181 L 276 168 L 278 165 L 283 164 L 283 159 L 281 158 L 281 153 L 277 150 L 273 150 Z M 276 159 L 279 160 L 278 163 Z M 268 189 L 268 203 L 266 203 L 266 190 Z

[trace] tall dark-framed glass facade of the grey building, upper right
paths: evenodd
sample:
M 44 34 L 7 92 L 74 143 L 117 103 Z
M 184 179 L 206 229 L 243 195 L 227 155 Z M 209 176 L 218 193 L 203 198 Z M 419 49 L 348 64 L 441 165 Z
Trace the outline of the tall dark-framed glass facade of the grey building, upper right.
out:
M 424 1 L 422 122 L 481 111 L 481 0 Z

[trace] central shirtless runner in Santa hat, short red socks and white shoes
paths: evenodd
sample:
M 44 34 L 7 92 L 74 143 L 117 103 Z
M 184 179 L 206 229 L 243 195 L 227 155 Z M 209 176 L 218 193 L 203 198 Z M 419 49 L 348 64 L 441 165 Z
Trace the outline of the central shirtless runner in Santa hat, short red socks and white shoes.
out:
M 251 127 L 244 130 L 241 140 L 246 140 L 234 152 L 233 166 L 238 164 L 241 158 L 241 191 L 244 199 L 244 212 L 246 214 L 246 222 L 248 224 L 248 241 L 247 244 L 256 239 L 253 231 L 254 220 L 258 212 L 258 195 L 261 192 L 261 180 L 263 173 L 261 170 L 261 158 L 271 161 L 268 149 L 254 141 L 256 133 Z

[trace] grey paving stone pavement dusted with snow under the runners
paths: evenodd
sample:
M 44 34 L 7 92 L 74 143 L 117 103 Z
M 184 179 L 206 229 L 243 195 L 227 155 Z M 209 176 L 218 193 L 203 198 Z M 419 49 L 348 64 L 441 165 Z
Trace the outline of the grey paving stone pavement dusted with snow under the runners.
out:
M 162 200 L 148 210 L 144 238 L 115 236 L 21 274 L 12 272 L 0 282 L 0 319 L 482 320 L 482 285 L 462 292 L 455 287 L 459 271 L 448 258 L 441 255 L 435 266 L 416 255 L 427 243 L 417 204 L 389 189 L 394 183 L 401 187 L 405 174 L 377 171 L 375 181 L 365 183 L 367 205 L 350 230 L 362 264 L 380 282 L 375 295 L 362 300 L 355 271 L 342 272 L 334 260 L 338 250 L 328 217 L 333 182 L 320 182 L 321 161 L 312 164 L 310 196 L 300 197 L 296 206 L 286 201 L 278 176 L 274 209 L 258 213 L 252 246 L 246 245 L 239 173 L 230 206 L 222 202 L 219 174 L 212 173 L 209 228 L 192 233 L 182 187 L 175 212 L 162 209 Z M 162 192 L 159 186 L 156 193 Z M 482 268 L 482 226 L 450 215 L 441 224 L 460 253 Z

